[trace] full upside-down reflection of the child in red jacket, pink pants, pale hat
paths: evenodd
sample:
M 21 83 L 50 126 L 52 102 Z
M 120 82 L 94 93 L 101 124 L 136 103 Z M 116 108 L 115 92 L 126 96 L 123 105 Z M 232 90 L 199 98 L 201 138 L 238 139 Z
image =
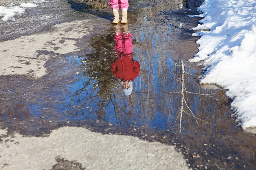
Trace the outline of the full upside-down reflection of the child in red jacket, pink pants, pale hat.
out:
M 131 33 L 128 31 L 115 34 L 116 58 L 111 63 L 112 74 L 120 79 L 126 96 L 132 92 L 132 83 L 140 73 L 140 63 L 134 61 L 132 52 Z

